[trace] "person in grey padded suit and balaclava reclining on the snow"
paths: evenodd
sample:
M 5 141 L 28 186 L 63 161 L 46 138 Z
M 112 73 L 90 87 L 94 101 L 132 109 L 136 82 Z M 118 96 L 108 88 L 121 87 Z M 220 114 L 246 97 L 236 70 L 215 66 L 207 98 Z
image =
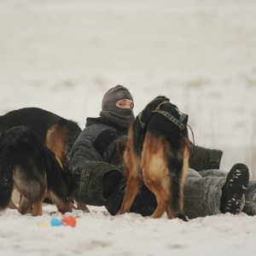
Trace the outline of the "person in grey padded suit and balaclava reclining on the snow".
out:
M 122 85 L 108 90 L 98 118 L 87 118 L 69 154 L 66 166 L 73 177 L 75 201 L 105 206 L 112 215 L 119 211 L 125 195 L 126 179 L 115 140 L 126 141 L 134 121 L 133 98 Z M 256 214 L 256 182 L 249 182 L 247 166 L 236 164 L 230 172 L 220 171 L 223 152 L 191 143 L 189 175 L 184 184 L 184 213 L 188 218 L 241 211 Z M 154 194 L 143 187 L 130 212 L 150 216 L 156 207 Z

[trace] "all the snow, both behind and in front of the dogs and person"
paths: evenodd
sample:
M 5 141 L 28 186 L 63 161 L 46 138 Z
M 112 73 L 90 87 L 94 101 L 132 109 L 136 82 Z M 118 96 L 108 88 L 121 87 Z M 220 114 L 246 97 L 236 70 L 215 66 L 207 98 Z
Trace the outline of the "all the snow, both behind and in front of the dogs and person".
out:
M 104 92 L 127 86 L 135 113 L 169 96 L 195 143 L 224 150 L 256 180 L 254 0 L 0 0 L 0 114 L 39 107 L 79 121 L 98 116 Z M 77 226 L 0 213 L 3 255 L 253 255 L 256 218 L 183 223 L 103 207 L 74 211 Z M 59 215 L 57 217 L 61 218 Z M 48 224 L 42 227 L 42 224 Z

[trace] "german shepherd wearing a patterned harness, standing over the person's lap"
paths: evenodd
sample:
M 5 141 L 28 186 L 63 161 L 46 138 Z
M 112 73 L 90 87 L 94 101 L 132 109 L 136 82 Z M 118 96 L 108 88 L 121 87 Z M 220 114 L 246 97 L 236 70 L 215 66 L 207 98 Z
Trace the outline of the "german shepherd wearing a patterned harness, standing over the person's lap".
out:
M 183 214 L 183 183 L 189 169 L 187 122 L 188 115 L 180 113 L 165 96 L 156 97 L 138 114 L 126 145 L 117 142 L 127 177 L 124 201 L 117 214 L 130 211 L 145 183 L 157 201 L 150 218 L 160 218 L 166 212 L 168 218 L 187 221 Z

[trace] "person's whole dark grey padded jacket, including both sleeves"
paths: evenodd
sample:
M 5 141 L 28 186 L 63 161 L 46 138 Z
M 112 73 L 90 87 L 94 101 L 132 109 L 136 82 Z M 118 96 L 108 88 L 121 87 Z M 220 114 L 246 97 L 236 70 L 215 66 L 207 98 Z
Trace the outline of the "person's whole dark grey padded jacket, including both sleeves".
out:
M 68 163 L 73 177 L 73 199 L 87 205 L 106 206 L 111 214 L 118 212 L 126 187 L 125 178 L 121 178 L 113 195 L 106 196 L 103 192 L 103 177 L 113 171 L 122 172 L 115 147 L 117 138 L 126 141 L 127 130 L 101 118 L 88 118 Z M 220 150 L 191 145 L 189 165 L 196 171 L 218 169 L 221 157 Z M 131 212 L 146 216 L 154 212 L 155 206 L 154 195 L 144 187 L 131 206 Z

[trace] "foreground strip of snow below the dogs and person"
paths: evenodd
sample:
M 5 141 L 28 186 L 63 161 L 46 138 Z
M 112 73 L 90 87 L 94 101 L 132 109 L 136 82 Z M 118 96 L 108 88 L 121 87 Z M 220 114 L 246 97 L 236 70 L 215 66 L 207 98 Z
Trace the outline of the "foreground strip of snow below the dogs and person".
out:
M 135 213 L 112 217 L 102 207 L 74 211 L 77 224 L 50 226 L 52 206 L 41 217 L 14 210 L 0 213 L 2 255 L 255 255 L 256 218 L 247 215 L 182 220 L 143 218 Z M 1 216 L 2 215 L 2 216 Z

